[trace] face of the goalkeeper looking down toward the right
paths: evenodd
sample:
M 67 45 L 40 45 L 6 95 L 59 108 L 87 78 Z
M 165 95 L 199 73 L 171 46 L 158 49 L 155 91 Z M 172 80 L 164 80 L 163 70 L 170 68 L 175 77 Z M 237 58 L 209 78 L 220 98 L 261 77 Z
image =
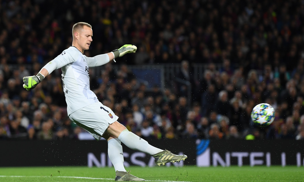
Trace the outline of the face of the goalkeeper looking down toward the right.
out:
M 90 27 L 88 26 L 83 26 L 83 29 L 80 29 L 78 31 L 78 36 L 76 37 L 78 39 L 78 45 L 81 47 L 83 50 L 88 50 L 90 47 L 93 36 L 93 31 Z

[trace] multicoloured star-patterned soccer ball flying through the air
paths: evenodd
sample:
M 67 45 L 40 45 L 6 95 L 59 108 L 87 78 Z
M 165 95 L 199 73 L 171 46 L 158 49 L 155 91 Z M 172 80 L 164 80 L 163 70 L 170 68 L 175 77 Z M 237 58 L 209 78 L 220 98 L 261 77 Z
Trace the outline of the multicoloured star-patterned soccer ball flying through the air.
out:
M 251 112 L 251 119 L 257 126 L 269 126 L 275 120 L 275 109 L 267 103 L 258 104 Z

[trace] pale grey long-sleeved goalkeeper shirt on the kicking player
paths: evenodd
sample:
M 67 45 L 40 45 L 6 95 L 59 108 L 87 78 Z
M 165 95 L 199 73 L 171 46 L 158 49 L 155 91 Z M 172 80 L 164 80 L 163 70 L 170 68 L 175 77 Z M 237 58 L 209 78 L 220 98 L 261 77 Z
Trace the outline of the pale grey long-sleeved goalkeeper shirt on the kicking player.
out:
M 90 90 L 89 68 L 104 65 L 109 61 L 107 54 L 87 57 L 76 47 L 71 46 L 43 67 L 49 74 L 61 68 L 68 115 L 99 102 L 95 93 Z

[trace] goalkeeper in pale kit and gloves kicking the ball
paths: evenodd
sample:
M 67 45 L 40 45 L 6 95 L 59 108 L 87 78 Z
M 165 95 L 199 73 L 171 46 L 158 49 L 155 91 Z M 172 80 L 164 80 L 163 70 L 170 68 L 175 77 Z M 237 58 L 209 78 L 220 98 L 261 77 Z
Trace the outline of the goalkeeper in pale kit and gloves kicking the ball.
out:
M 36 76 L 23 78 L 23 87 L 33 89 L 55 69 L 61 68 L 63 90 L 67 103 L 67 115 L 72 122 L 87 130 L 96 140 L 102 137 L 108 141 L 108 154 L 116 171 L 116 181 L 144 181 L 126 172 L 123 166 L 123 148 L 127 147 L 150 154 L 157 165 L 185 160 L 186 155 L 175 155 L 168 150 L 151 146 L 147 141 L 128 131 L 120 124 L 118 116 L 107 106 L 98 101 L 90 90 L 89 68 L 101 66 L 126 53 L 136 52 L 135 45 L 123 45 L 107 54 L 94 57 L 85 56 L 92 42 L 92 26 L 85 22 L 74 24 L 72 46 L 47 63 Z

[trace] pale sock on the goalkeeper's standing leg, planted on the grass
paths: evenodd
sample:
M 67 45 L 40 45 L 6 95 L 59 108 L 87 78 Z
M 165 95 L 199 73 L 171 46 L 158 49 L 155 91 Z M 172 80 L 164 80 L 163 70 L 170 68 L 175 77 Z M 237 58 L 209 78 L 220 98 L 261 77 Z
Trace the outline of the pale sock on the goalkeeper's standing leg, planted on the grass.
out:
M 108 141 L 108 155 L 115 171 L 126 172 L 126 169 L 123 166 L 123 147 L 117 138 Z

